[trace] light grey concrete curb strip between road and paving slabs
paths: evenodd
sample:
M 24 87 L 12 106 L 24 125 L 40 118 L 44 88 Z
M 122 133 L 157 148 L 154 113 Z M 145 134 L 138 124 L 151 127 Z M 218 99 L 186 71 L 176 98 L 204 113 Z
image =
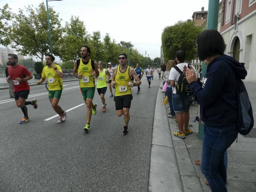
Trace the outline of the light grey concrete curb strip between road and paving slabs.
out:
M 158 88 L 151 143 L 148 191 L 183 192 L 184 187 L 181 182 L 179 164 L 161 92 L 162 90 Z

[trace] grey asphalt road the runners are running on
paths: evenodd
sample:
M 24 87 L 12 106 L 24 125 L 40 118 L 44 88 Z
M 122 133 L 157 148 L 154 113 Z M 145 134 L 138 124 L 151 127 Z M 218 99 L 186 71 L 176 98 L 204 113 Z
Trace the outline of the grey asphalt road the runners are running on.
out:
M 103 112 L 98 104 L 86 134 L 86 108 L 79 84 L 65 82 L 60 106 L 69 110 L 67 120 L 57 124 L 44 85 L 30 87 L 28 100 L 36 98 L 38 108 L 28 105 L 30 122 L 20 125 L 23 113 L 0 90 L 0 191 L 148 191 L 150 151 L 156 95 L 155 74 L 151 88 L 145 75 L 141 92 L 132 88 L 129 134 L 122 135 L 123 117 L 117 117 L 109 89 Z M 77 107 L 78 106 L 78 107 Z

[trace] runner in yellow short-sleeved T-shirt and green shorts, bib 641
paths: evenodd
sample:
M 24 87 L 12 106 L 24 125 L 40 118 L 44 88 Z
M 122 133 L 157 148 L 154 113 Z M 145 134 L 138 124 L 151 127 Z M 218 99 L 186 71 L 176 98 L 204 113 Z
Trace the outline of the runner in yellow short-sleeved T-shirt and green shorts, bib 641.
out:
M 36 85 L 43 83 L 45 78 L 47 78 L 49 85 L 49 100 L 54 111 L 60 115 L 57 123 L 62 123 L 67 119 L 66 111 L 62 110 L 58 105 L 63 90 L 63 83 L 61 79 L 63 77 L 63 73 L 59 65 L 54 65 L 52 63 L 54 60 L 55 57 L 52 54 L 45 54 L 45 63 L 47 66 L 43 68 L 42 78 L 40 81 L 36 82 Z

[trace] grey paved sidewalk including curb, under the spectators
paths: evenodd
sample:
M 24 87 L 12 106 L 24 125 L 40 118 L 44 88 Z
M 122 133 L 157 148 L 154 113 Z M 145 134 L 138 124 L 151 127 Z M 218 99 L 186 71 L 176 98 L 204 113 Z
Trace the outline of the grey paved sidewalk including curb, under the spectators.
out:
M 244 84 L 247 88 L 255 117 L 256 97 L 254 93 L 256 92 L 256 84 L 248 82 L 244 82 Z M 187 135 L 186 139 L 175 137 L 173 132 L 178 130 L 176 119 L 166 118 L 167 113 L 170 112 L 168 110 L 169 103 L 166 106 L 162 104 L 164 98 L 161 90 L 159 89 L 156 100 L 149 191 L 211 191 L 210 187 L 205 184 L 206 179 L 200 170 L 200 166 L 195 164 L 196 160 L 201 159 L 203 143 L 197 137 L 198 122 L 193 122 L 197 105 L 192 104 L 190 107 L 189 127 L 192 128 L 194 133 Z M 165 113 L 162 111 L 163 106 Z M 166 125 L 166 119 L 168 126 Z M 170 127 L 170 130 L 167 130 L 167 127 Z M 246 136 L 239 134 L 237 143 L 234 142 L 228 149 L 228 191 L 256 191 L 255 127 L 254 125 L 251 133 Z M 170 140 L 167 142 L 168 139 Z M 156 154 L 158 155 L 157 161 L 154 157 Z M 175 174 L 176 172 L 179 174 L 178 176 Z

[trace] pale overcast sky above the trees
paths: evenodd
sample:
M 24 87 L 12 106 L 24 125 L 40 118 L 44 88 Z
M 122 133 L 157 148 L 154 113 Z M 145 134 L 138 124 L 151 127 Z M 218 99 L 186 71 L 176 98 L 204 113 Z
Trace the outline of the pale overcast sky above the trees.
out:
M 0 0 L 0 7 L 8 3 L 12 12 L 41 0 Z M 44 0 L 45 4 L 45 0 Z M 71 15 L 84 21 L 86 30 L 92 34 L 99 30 L 101 38 L 108 33 L 116 42 L 131 41 L 141 54 L 147 51 L 150 58 L 160 57 L 161 34 L 164 27 L 179 20 L 192 19 L 193 12 L 208 10 L 208 0 L 62 0 L 50 1 L 60 13 L 62 26 Z

